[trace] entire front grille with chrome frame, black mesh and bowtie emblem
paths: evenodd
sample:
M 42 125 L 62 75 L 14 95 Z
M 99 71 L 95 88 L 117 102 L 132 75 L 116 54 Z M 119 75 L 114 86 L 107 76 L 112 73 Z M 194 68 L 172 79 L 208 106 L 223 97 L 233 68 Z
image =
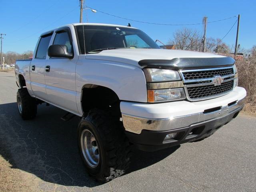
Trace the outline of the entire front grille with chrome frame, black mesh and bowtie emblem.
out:
M 189 101 L 206 100 L 228 94 L 233 89 L 235 79 L 233 66 L 180 70 L 180 76 Z

